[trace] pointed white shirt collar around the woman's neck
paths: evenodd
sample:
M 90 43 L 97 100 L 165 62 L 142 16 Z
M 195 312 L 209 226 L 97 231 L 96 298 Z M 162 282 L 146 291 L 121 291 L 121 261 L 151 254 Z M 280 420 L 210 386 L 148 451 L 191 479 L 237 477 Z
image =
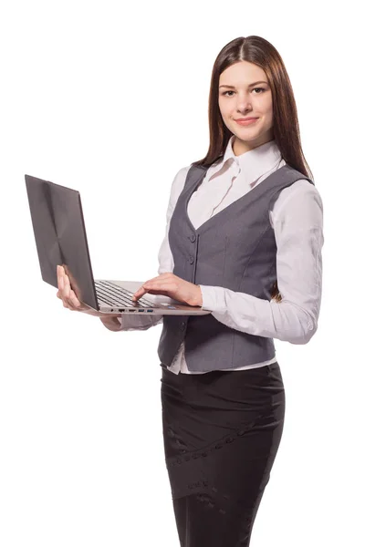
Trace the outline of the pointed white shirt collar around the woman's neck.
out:
M 235 156 L 233 150 L 234 139 L 235 135 L 232 135 L 228 140 L 223 159 L 211 166 L 209 179 L 212 178 L 213 175 L 218 174 L 221 170 L 231 168 L 233 176 L 237 176 L 239 172 L 242 172 L 247 184 L 254 186 L 255 182 L 262 175 L 268 170 L 274 169 L 283 159 L 275 139 L 269 140 L 265 144 L 262 144 L 253 150 L 249 150 L 248 152 L 244 152 L 239 156 Z

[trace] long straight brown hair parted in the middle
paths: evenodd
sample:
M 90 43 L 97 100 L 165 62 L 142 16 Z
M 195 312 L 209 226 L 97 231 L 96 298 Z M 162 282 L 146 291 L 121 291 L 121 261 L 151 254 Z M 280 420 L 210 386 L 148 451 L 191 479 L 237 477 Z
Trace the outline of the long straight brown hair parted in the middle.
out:
M 209 91 L 209 149 L 205 157 L 193 161 L 193 165 L 209 167 L 224 156 L 228 140 L 233 133 L 224 124 L 219 109 L 219 77 L 225 68 L 239 61 L 248 61 L 265 71 L 273 100 L 273 132 L 276 145 L 288 165 L 313 180 L 301 147 L 297 105 L 287 69 L 276 48 L 261 36 L 235 38 L 228 42 L 216 57 Z M 281 295 L 277 282 L 272 287 L 271 295 L 280 302 Z

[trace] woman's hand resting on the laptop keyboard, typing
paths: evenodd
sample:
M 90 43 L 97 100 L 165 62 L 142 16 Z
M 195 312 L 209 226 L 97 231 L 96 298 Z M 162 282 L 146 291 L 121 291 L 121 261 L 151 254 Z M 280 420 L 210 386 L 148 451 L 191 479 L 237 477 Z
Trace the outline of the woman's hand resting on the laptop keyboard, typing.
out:
M 183 304 L 203 305 L 202 291 L 199 285 L 185 281 L 172 272 L 153 277 L 133 294 L 132 300 L 137 301 L 145 293 L 163 294 Z

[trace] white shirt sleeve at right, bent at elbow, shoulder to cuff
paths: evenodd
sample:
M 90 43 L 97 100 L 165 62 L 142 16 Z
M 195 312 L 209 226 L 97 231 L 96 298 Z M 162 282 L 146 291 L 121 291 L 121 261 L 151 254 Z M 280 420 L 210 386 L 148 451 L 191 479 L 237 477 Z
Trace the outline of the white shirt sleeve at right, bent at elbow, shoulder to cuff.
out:
M 280 192 L 270 215 L 281 302 L 201 285 L 203 307 L 224 325 L 250 335 L 307 344 L 317 330 L 322 291 L 323 204 L 318 190 L 297 181 Z

